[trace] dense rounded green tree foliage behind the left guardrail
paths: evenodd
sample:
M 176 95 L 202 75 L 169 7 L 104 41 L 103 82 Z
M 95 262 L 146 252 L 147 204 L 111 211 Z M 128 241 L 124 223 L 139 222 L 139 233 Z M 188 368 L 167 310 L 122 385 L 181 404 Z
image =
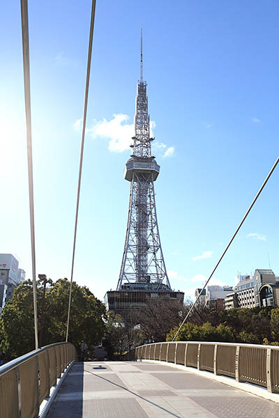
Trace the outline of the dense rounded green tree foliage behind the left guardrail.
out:
M 59 279 L 45 294 L 43 345 L 65 341 L 70 283 Z M 43 286 L 38 283 L 38 316 L 42 308 Z M 68 341 L 78 349 L 82 341 L 98 345 L 105 335 L 105 305 L 85 286 L 72 287 Z M 38 324 L 40 328 L 40 323 Z M 31 281 L 18 286 L 3 308 L 0 318 L 0 348 L 14 358 L 34 349 L 33 289 Z

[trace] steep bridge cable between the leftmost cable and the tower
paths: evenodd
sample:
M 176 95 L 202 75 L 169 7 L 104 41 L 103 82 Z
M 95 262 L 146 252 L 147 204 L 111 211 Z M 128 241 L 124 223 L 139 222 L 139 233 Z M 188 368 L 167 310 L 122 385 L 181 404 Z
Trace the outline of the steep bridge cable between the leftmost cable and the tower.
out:
M 72 300 L 73 270 L 74 270 L 74 263 L 75 263 L 75 242 L 76 242 L 76 238 L 77 238 L 77 218 L 78 218 L 78 210 L 79 210 L 79 206 L 80 206 L 80 183 L 81 183 L 81 180 L 82 180 L 82 161 L 83 161 L 83 150 L 84 150 L 84 134 L 85 134 L 85 126 L 86 126 L 87 102 L 88 102 L 88 92 L 89 92 L 89 79 L 90 79 L 90 67 L 91 67 L 91 55 L 92 55 L 92 44 L 93 44 L 95 9 L 96 9 L 96 0 L 92 0 L 91 23 L 90 23 L 90 33 L 89 33 L 89 47 L 88 47 L 88 58 L 87 58 L 87 71 L 86 71 L 86 85 L 85 85 L 85 93 L 84 93 L 84 109 L 83 109 L 83 118 L 82 118 L 82 144 L 81 144 L 81 148 L 80 148 L 80 171 L 79 171 L 79 179 L 78 179 L 78 185 L 77 185 L 77 207 L 76 207 L 76 211 L 75 211 L 75 232 L 74 232 L 74 242 L 73 242 L 73 258 L 72 258 L 72 270 L 71 270 L 71 273 L 70 273 L 70 293 L 69 293 L 69 303 L 68 303 L 66 341 L 68 341 L 69 322 L 70 322 L 70 303 L 71 303 L 71 300 Z

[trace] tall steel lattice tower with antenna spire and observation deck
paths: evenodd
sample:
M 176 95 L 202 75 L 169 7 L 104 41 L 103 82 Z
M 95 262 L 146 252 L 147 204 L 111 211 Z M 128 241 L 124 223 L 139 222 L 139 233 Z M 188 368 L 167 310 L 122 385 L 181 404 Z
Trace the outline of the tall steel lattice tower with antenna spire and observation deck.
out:
M 156 214 L 154 182 L 160 166 L 151 155 L 150 121 L 146 82 L 142 75 L 142 36 L 140 81 L 137 83 L 135 137 L 126 163 L 125 179 L 130 182 L 126 240 L 116 291 L 108 291 L 108 309 L 130 318 L 149 298 L 164 297 L 183 303 L 184 293 L 173 291 L 163 257 Z M 129 314 L 128 314 L 129 311 Z M 128 315 L 127 315 L 128 314 Z

